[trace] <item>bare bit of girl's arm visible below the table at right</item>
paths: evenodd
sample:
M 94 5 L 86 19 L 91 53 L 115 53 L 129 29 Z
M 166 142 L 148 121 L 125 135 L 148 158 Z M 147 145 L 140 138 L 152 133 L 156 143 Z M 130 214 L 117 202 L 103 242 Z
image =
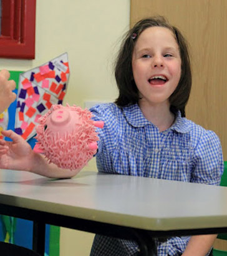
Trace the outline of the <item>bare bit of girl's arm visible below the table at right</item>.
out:
M 194 235 L 188 242 L 182 256 L 205 256 L 208 254 L 217 235 Z

